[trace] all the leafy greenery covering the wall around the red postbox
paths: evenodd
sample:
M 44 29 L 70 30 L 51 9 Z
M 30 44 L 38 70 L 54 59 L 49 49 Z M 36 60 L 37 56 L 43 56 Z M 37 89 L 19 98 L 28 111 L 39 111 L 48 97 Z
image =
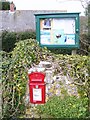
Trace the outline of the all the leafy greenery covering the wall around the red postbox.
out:
M 52 104 L 57 106 L 59 100 L 64 105 L 64 108 L 60 107 L 60 113 L 57 111 L 52 111 L 52 107 L 55 107 L 51 102 L 47 103 L 45 106 L 45 111 L 53 116 L 59 117 L 62 114 L 66 117 L 85 117 L 86 111 L 89 111 L 90 104 L 90 57 L 89 56 L 70 56 L 70 55 L 60 55 L 53 54 L 46 48 L 40 48 L 36 40 L 27 39 L 24 41 L 19 41 L 16 43 L 16 47 L 10 53 L 1 52 L 2 55 L 2 88 L 3 88 L 3 117 L 19 117 L 21 114 L 25 114 L 25 92 L 26 84 L 28 81 L 28 69 L 33 64 L 38 64 L 40 60 L 47 60 L 49 56 L 52 60 L 61 67 L 61 71 L 65 75 L 69 75 L 70 78 L 74 80 L 74 84 L 79 86 L 79 94 L 81 100 L 77 98 L 67 98 L 66 102 L 56 97 L 52 101 Z M 58 72 L 58 71 L 56 71 Z M 76 100 L 77 101 L 76 101 Z M 71 101 L 71 104 L 75 108 L 68 112 L 69 108 L 66 108 L 66 104 Z M 74 102 L 73 102 L 74 101 Z M 84 101 L 84 102 L 83 102 Z M 88 102 L 88 103 L 87 103 Z M 85 104 L 84 104 L 85 103 Z M 51 107 L 47 110 L 48 104 Z M 61 105 L 61 106 L 62 106 Z M 80 108 L 79 108 L 80 107 Z M 54 108 L 53 108 L 54 109 Z M 75 109 L 75 113 L 73 113 Z M 87 109 L 87 110 L 86 110 Z M 79 112 L 77 113 L 77 111 Z M 90 111 L 89 111 L 90 112 Z M 47 112 L 46 112 L 47 113 Z M 83 114 L 82 114 L 83 113 Z

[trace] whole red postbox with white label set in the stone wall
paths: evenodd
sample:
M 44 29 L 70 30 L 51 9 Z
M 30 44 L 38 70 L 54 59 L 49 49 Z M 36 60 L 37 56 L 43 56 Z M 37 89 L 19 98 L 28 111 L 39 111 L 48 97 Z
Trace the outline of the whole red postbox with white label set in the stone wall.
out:
M 33 104 L 45 103 L 45 74 L 32 72 L 29 75 L 30 102 Z

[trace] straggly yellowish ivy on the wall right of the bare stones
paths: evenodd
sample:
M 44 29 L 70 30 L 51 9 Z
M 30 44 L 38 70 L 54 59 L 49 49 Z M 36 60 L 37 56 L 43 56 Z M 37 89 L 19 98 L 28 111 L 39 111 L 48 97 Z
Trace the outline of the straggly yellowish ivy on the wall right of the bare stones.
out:
M 57 73 L 68 75 L 73 84 L 77 85 L 79 95 L 90 100 L 90 56 L 55 55 L 54 60 L 61 67 Z M 90 112 L 90 101 L 88 101 Z

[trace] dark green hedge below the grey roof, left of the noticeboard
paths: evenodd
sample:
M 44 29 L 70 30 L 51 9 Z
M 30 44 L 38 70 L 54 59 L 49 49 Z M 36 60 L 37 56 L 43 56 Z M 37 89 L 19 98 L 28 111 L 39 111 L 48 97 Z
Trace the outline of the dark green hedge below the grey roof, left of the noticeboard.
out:
M 2 37 L 2 50 L 6 52 L 11 52 L 15 47 L 16 42 L 29 38 L 35 39 L 36 34 L 35 32 L 30 31 L 26 32 L 3 31 L 1 37 Z

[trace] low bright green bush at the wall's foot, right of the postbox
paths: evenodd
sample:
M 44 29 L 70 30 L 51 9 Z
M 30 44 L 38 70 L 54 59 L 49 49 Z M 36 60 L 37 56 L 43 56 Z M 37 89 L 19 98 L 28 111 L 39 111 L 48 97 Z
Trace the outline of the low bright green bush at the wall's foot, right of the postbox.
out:
M 40 114 L 48 114 L 54 118 L 85 118 L 87 113 L 87 98 L 67 96 L 53 97 L 45 105 L 37 106 Z

